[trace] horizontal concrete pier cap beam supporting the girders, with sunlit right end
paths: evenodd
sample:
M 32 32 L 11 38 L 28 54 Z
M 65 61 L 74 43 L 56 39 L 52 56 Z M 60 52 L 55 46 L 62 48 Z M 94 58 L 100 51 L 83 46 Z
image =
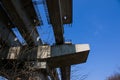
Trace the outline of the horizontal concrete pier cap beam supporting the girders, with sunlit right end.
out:
M 47 62 L 51 67 L 63 67 L 84 63 L 90 51 L 88 44 L 39 46 L 32 49 L 25 47 L 11 47 L 7 55 L 0 56 L 0 59 L 18 61 Z M 0 53 L 2 54 L 2 53 Z

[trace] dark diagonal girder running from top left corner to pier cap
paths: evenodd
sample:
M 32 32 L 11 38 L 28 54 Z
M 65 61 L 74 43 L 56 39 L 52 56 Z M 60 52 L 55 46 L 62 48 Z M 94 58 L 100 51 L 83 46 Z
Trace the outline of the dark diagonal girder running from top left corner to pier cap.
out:
M 37 41 L 38 34 L 24 11 L 25 9 L 20 4 L 20 0 L 1 0 L 1 3 L 10 20 L 14 23 L 15 27 L 18 27 L 28 45 L 41 44 L 41 41 Z

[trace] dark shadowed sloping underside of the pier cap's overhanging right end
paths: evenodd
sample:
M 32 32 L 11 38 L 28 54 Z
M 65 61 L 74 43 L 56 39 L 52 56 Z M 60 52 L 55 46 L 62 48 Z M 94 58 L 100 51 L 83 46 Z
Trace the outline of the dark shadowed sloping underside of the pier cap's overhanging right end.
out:
M 48 64 L 51 67 L 62 67 L 74 64 L 85 63 L 88 57 L 88 51 L 83 51 L 75 54 L 68 54 L 63 56 L 51 57 L 48 60 Z

